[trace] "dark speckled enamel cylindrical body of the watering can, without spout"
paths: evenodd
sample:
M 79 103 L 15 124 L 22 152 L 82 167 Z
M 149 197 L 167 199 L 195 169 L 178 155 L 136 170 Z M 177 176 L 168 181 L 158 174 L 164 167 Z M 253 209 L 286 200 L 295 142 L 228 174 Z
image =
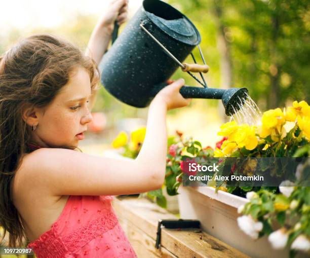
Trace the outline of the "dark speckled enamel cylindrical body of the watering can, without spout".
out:
M 180 62 L 201 41 L 197 28 L 178 10 L 159 0 L 145 0 L 100 66 L 106 90 L 135 107 L 148 106 L 179 67 L 140 24 Z

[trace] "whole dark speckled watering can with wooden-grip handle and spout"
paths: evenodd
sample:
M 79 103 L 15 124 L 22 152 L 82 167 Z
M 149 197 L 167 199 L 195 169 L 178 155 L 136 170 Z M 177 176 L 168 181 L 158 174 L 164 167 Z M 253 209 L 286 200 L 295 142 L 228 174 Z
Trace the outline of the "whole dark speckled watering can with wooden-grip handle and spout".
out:
M 116 33 L 115 33 L 116 30 Z M 182 86 L 184 98 L 221 99 L 230 116 L 243 104 L 246 88 L 208 88 L 202 75 L 209 70 L 199 47 L 201 36 L 182 13 L 160 0 L 144 0 L 120 36 L 113 32 L 112 46 L 103 56 L 101 82 L 120 101 L 146 107 L 180 66 L 203 87 Z M 192 50 L 198 46 L 204 64 L 197 64 Z M 191 54 L 194 64 L 183 63 Z M 192 72 L 199 72 L 199 80 Z

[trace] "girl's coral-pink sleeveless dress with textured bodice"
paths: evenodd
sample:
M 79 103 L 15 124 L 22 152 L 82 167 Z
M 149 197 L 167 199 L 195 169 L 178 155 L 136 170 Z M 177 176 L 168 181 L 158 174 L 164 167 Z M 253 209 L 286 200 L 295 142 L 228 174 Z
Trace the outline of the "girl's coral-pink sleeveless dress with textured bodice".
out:
M 113 196 L 71 195 L 51 229 L 29 243 L 37 258 L 137 257 L 111 206 Z

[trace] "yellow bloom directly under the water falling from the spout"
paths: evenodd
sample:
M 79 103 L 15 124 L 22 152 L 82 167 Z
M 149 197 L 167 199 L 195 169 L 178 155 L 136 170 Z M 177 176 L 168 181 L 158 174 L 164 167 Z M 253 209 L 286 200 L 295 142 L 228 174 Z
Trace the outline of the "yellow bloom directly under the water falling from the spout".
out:
M 258 144 L 257 137 L 255 136 L 255 126 L 242 124 L 238 127 L 237 132 L 228 137 L 228 140 L 237 142 L 238 148 L 245 148 L 253 150 Z

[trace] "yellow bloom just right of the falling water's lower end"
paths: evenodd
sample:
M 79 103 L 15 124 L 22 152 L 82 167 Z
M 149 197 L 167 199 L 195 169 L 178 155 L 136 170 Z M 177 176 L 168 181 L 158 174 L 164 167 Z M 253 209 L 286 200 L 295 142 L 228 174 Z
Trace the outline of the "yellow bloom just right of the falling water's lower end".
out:
M 259 126 L 259 136 L 266 138 L 273 133 L 275 135 L 283 134 L 283 125 L 285 124 L 285 118 L 282 110 L 278 107 L 276 109 L 270 109 L 264 112 L 261 118 L 261 126 Z

